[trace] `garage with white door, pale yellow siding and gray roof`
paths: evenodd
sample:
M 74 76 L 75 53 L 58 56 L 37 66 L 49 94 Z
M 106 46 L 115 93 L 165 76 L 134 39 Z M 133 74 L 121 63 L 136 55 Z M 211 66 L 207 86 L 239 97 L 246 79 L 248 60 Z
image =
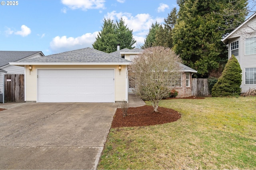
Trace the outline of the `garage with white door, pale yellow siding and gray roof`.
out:
M 119 102 L 128 101 L 130 63 L 88 47 L 10 64 L 26 68 L 26 102 Z

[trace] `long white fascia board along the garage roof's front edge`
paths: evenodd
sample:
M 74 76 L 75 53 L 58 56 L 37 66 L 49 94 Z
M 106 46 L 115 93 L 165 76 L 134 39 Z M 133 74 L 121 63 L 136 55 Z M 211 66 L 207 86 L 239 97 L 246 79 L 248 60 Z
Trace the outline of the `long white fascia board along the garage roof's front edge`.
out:
M 129 65 L 130 63 L 9 63 L 10 65 Z

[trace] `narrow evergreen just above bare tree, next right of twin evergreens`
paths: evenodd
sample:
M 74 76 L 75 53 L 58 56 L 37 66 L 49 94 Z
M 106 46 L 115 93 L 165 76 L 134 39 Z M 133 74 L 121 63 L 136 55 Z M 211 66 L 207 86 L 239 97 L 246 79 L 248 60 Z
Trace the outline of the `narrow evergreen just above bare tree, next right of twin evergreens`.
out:
M 148 47 L 153 47 L 156 42 L 156 32 L 158 31 L 160 24 L 156 22 L 152 23 L 148 35 L 146 35 L 146 39 L 144 40 L 144 45 L 141 47 L 142 49 L 146 49 Z

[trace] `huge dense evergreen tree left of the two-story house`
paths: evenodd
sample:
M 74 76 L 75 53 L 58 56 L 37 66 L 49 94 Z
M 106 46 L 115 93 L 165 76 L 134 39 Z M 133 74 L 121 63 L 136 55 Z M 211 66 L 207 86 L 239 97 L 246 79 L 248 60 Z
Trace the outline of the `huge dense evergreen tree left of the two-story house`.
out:
M 240 0 L 241 1 L 241 0 Z M 240 5 L 246 11 L 246 0 Z M 172 32 L 174 51 L 180 55 L 184 64 L 198 71 L 198 77 L 208 76 L 209 71 L 217 69 L 227 57 L 227 47 L 221 39 L 229 27 L 226 19 L 218 13 L 228 10 L 235 1 L 180 0 L 178 19 Z M 230 16 L 244 20 L 245 15 Z

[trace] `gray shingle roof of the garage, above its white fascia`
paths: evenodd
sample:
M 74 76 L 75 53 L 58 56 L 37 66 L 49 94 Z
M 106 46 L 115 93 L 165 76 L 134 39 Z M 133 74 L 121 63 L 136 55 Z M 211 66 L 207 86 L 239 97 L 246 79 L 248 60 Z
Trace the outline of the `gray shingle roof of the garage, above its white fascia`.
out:
M 87 47 L 36 59 L 28 59 L 20 61 L 20 63 L 130 63 L 130 61 Z

